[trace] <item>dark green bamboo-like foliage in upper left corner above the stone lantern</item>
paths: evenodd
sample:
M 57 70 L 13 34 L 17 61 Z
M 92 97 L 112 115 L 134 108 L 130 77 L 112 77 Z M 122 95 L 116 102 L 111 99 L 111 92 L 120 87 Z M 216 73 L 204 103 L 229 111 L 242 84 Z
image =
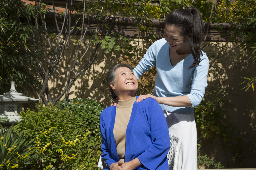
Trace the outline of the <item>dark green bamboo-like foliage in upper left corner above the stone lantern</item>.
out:
M 1 0 L 0 3 L 0 94 L 10 89 L 10 82 L 20 91 L 33 93 L 31 89 L 40 87 L 35 79 L 34 62 L 26 56 L 23 48 L 27 48 L 28 38 L 34 27 L 24 23 L 33 19 L 33 6 L 24 6 L 22 1 Z M 20 17 L 18 17 L 20 16 Z M 29 69 L 30 68 L 30 69 Z

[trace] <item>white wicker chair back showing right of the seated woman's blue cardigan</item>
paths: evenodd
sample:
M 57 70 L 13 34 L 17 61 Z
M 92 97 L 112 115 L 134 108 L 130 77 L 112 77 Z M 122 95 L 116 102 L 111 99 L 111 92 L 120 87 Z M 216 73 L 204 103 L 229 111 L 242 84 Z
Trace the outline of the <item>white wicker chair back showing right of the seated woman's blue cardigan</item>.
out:
M 169 170 L 177 170 L 182 139 L 178 135 L 172 133 L 169 133 L 169 135 L 171 142 L 170 150 L 167 153 Z

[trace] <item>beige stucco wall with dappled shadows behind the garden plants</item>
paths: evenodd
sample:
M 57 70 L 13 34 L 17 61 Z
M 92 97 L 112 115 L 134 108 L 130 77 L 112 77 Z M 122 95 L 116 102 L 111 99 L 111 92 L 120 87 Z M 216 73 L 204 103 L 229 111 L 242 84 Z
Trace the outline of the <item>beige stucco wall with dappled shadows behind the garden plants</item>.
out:
M 79 39 L 74 36 L 73 39 Z M 136 45 L 136 42 L 133 42 Z M 204 51 L 215 51 L 218 53 L 220 51 L 221 44 L 217 43 L 218 46 L 210 49 L 209 47 L 205 47 Z M 140 48 L 145 53 L 146 49 L 149 47 L 147 44 L 139 43 Z M 231 48 L 235 46 L 234 43 L 229 43 L 229 47 L 222 52 L 225 54 Z M 52 76 L 51 80 L 48 82 L 48 86 L 51 91 L 52 96 L 58 96 L 61 93 L 61 89 L 65 86 L 67 82 L 67 74 L 68 67 L 73 64 L 73 54 L 75 53 L 76 46 L 75 43 L 70 42 L 63 56 L 63 60 L 59 64 L 59 69 Z M 222 107 L 225 110 L 225 116 L 230 122 L 233 122 L 234 125 L 241 128 L 242 137 L 243 137 L 243 145 L 241 149 L 242 160 L 246 162 L 244 167 L 254 167 L 255 168 L 255 125 L 256 125 L 256 92 L 250 88 L 247 92 L 241 90 L 245 84 L 240 85 L 243 80 L 242 77 L 253 77 L 255 76 L 255 64 L 252 63 L 252 60 L 248 59 L 249 55 L 245 54 L 243 59 L 233 59 L 237 54 L 239 54 L 241 50 L 236 48 L 234 51 L 230 52 L 226 56 L 219 58 L 218 62 L 213 66 L 216 67 L 216 70 L 210 73 L 210 77 L 208 78 L 208 87 L 206 91 L 214 91 L 218 87 L 218 83 L 220 83 L 222 88 L 230 89 L 224 93 L 225 99 L 227 102 L 222 104 Z M 104 74 L 107 73 L 109 68 L 112 67 L 111 55 L 113 64 L 119 63 L 118 57 L 122 54 L 118 52 L 105 54 L 105 50 L 99 49 L 97 61 L 92 65 L 90 69 L 85 71 L 84 74 L 80 76 L 73 86 L 70 89 L 69 98 L 82 97 L 82 98 L 90 98 L 97 100 L 105 105 L 105 107 L 109 106 L 111 100 L 103 95 L 94 82 L 92 75 Z M 89 54 L 88 54 L 89 56 Z M 210 59 L 210 62 L 212 59 Z M 76 71 L 76 70 L 75 70 Z M 219 76 L 215 77 L 214 75 L 218 74 Z M 99 85 L 101 82 L 98 82 Z M 61 99 L 65 98 L 63 96 Z M 214 140 L 214 139 L 212 139 Z M 213 159 L 217 161 L 221 161 L 220 158 L 223 158 L 223 154 L 225 154 L 221 149 L 215 148 Z M 232 159 L 232 155 L 229 155 L 229 158 Z M 229 162 L 229 160 L 222 160 L 222 165 L 226 168 L 238 168 L 240 167 L 239 161 L 235 163 Z

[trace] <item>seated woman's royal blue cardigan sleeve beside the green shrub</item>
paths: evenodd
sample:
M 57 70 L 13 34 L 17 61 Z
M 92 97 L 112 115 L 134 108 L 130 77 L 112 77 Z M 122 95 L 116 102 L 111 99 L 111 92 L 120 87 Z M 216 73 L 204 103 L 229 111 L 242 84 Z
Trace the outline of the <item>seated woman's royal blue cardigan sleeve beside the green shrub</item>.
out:
M 102 111 L 102 113 L 103 113 L 103 111 Z M 114 160 L 114 158 L 111 154 L 111 151 L 108 147 L 107 138 L 106 138 L 105 121 L 102 118 L 103 117 L 102 113 L 101 113 L 101 116 L 100 116 L 101 150 L 102 150 L 101 157 L 104 158 L 105 161 L 106 161 L 106 164 L 107 164 L 106 169 L 109 169 L 109 166 L 112 163 L 116 163 L 116 162 L 115 162 L 115 160 Z

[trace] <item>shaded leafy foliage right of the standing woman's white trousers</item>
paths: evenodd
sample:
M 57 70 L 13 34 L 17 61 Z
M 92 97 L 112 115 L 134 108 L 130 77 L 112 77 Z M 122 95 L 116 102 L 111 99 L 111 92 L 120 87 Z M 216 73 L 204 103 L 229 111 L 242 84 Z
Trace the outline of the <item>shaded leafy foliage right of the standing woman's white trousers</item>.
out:
M 240 164 L 243 164 L 241 158 L 241 129 L 234 126 L 234 124 L 229 122 L 225 117 L 224 111 L 220 107 L 220 104 L 223 104 L 223 102 L 226 102 L 226 100 L 216 93 L 211 95 L 215 96 L 213 101 L 204 99 L 198 107 L 195 107 L 197 136 L 200 137 L 200 140 L 198 140 L 198 145 L 200 145 L 200 147 L 201 145 L 204 146 L 204 152 L 209 154 L 214 153 L 214 148 L 221 148 L 224 153 L 231 153 L 233 155 L 232 160 L 228 161 L 234 162 L 238 160 Z M 214 141 L 214 145 L 209 145 L 209 141 Z M 199 166 L 202 164 L 201 161 L 203 157 L 202 155 L 198 156 L 200 157 L 200 159 L 198 159 Z M 204 159 L 207 158 L 205 157 Z M 225 157 L 221 159 L 225 159 Z M 222 167 L 221 164 L 217 164 L 219 166 L 218 169 Z M 214 165 L 215 168 L 217 168 L 217 164 Z M 209 167 L 209 165 L 210 164 L 205 162 L 205 166 Z

